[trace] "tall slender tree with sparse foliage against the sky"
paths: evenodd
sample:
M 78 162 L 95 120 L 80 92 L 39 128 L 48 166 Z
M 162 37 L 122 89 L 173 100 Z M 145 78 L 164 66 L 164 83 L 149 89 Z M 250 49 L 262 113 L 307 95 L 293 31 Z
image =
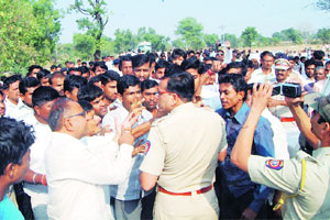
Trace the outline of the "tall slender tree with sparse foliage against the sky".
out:
M 109 21 L 107 14 L 107 3 L 105 0 L 75 0 L 70 4 L 70 10 L 81 13 L 87 18 L 77 20 L 78 29 L 86 31 L 86 34 L 92 36 L 96 43 L 96 58 L 100 58 L 100 47 L 103 31 Z

